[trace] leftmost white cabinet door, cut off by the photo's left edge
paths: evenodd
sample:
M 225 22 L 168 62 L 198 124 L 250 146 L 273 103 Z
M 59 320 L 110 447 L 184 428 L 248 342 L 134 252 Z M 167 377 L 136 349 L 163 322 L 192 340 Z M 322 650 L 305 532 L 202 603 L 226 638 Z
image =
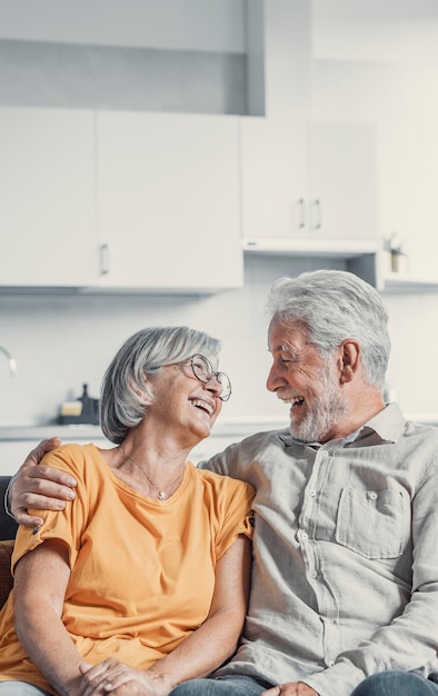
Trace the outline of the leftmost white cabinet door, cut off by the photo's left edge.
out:
M 0 109 L 1 286 L 96 281 L 93 116 Z

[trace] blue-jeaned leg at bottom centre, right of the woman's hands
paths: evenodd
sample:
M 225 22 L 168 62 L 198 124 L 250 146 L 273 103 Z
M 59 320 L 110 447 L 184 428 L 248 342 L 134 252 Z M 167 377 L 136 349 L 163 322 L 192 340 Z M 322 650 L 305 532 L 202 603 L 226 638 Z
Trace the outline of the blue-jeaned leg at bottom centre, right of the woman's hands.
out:
M 253 677 L 225 675 L 182 682 L 169 696 L 260 696 L 272 684 L 262 684 Z

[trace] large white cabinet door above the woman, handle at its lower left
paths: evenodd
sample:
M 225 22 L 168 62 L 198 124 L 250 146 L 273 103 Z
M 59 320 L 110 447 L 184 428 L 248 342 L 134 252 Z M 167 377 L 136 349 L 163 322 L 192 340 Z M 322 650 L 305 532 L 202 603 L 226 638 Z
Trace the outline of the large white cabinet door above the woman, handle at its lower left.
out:
M 101 287 L 242 285 L 235 117 L 98 113 Z

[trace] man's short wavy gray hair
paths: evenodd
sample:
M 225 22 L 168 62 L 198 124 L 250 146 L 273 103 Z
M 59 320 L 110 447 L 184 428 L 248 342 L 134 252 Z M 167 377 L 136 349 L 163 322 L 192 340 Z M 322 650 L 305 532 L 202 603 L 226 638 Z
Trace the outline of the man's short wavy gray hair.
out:
M 367 382 L 384 387 L 390 351 L 388 312 L 377 290 L 358 276 L 315 270 L 280 278 L 271 287 L 268 310 L 271 321 L 302 321 L 320 352 L 334 350 L 347 338 L 356 339 Z

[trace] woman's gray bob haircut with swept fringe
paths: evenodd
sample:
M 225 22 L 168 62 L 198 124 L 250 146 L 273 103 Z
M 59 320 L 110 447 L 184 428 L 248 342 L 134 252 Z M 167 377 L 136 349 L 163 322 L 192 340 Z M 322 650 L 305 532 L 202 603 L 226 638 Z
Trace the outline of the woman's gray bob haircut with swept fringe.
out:
M 137 331 L 118 350 L 102 379 L 99 408 L 103 435 L 119 445 L 142 420 L 153 402 L 145 376 L 158 375 L 166 365 L 183 362 L 196 352 L 211 359 L 220 349 L 217 338 L 187 326 Z

